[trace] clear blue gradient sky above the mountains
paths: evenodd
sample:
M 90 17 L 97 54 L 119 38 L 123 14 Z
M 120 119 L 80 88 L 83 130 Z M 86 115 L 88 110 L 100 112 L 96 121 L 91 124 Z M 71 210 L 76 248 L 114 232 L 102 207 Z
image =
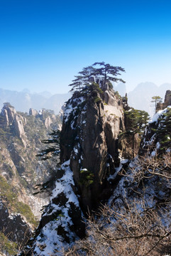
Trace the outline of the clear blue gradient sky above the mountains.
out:
M 171 83 L 171 1 L 0 0 L 0 88 L 68 92 L 104 61 L 139 82 Z

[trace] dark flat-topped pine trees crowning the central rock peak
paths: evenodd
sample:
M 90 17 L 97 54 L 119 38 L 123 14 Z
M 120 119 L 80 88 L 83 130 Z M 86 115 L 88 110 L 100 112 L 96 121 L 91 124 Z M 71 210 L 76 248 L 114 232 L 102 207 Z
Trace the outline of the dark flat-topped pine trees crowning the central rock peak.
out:
M 99 68 L 94 68 L 96 65 L 98 65 Z M 105 64 L 104 62 L 96 62 L 87 68 L 83 68 L 82 71 L 79 72 L 79 75 L 75 75 L 75 80 L 72 80 L 70 84 L 70 86 L 72 86 L 70 91 L 73 92 L 77 90 L 82 92 L 82 90 L 89 85 L 90 78 L 94 78 L 94 82 L 96 82 L 96 80 L 103 81 L 104 84 L 108 82 L 109 87 L 112 87 L 111 82 L 125 82 L 121 78 L 116 78 L 118 75 L 121 75 L 120 72 L 125 72 L 125 70 L 121 67 Z

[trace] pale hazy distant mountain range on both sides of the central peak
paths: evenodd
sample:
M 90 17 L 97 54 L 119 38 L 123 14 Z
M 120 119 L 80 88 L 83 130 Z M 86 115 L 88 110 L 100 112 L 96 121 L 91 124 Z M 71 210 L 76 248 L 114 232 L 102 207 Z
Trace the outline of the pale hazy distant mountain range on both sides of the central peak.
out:
M 114 86 L 114 90 L 125 96 L 126 84 L 119 83 Z M 153 82 L 142 82 L 133 91 L 128 92 L 128 104 L 138 110 L 145 110 L 152 116 L 154 104 L 151 98 L 160 96 L 164 100 L 166 90 L 171 90 L 170 83 L 158 87 Z M 70 93 L 52 95 L 50 92 L 31 93 L 27 89 L 22 92 L 0 89 L 0 107 L 3 107 L 4 102 L 10 102 L 17 111 L 28 112 L 32 107 L 35 110 L 54 110 L 57 114 L 70 96 Z

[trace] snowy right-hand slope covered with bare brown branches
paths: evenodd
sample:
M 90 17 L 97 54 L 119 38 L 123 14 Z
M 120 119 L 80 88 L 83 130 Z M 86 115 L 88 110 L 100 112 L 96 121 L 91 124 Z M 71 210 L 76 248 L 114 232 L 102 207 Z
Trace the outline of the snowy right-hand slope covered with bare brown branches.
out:
M 170 255 L 170 120 L 169 106 L 155 114 L 139 155 L 121 161 L 109 177 L 111 182 L 121 178 L 108 203 L 93 218 L 89 216 L 87 238 L 76 241 L 64 255 Z

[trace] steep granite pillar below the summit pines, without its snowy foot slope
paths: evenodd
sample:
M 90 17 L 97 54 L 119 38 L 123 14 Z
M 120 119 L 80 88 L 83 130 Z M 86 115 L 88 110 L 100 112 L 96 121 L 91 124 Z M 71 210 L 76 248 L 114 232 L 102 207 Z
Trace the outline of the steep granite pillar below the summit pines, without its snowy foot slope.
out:
M 124 132 L 123 103 L 106 90 L 102 95 L 75 93 L 65 107 L 61 161 L 70 169 L 84 210 L 101 199 L 106 178 L 118 166 L 118 134 Z

